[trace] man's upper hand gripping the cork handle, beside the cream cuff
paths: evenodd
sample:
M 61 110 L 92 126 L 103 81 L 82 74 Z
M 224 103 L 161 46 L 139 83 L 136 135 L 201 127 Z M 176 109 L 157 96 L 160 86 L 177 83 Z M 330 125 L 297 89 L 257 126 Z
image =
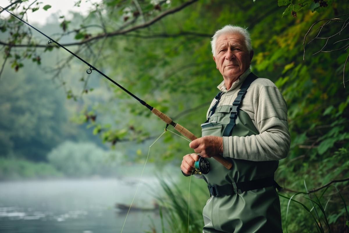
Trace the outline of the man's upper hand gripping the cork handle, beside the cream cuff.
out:
M 203 136 L 193 140 L 189 144 L 196 153 L 199 153 L 203 158 L 211 158 L 219 153 L 223 153 L 223 138 L 217 136 Z

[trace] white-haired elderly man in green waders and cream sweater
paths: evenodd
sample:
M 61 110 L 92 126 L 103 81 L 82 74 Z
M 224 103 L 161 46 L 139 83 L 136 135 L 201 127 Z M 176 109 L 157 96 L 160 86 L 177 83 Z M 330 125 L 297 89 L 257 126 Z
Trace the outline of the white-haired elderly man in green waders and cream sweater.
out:
M 211 195 L 203 232 L 282 232 L 274 172 L 290 147 L 286 103 L 272 81 L 251 73 L 246 29 L 228 25 L 212 38 L 223 81 L 201 125 L 202 137 L 189 144 L 210 167 L 208 174 L 195 175 L 205 179 Z M 184 174 L 192 174 L 196 153 L 183 157 Z M 233 163 L 231 169 L 210 158 L 218 154 Z

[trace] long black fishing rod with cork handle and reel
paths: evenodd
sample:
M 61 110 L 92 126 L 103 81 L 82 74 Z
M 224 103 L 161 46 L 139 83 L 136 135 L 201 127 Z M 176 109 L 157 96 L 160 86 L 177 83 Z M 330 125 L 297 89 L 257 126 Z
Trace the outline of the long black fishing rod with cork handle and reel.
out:
M 2 7 L 1 7 L 2 8 Z M 60 43 L 58 43 L 57 41 L 55 41 L 54 39 L 52 39 L 51 37 L 47 36 L 46 34 L 44 34 L 42 31 L 36 29 L 34 26 L 31 26 L 29 23 L 25 22 L 24 20 L 20 19 L 19 17 L 17 17 L 16 15 L 14 15 L 13 13 L 9 12 L 6 8 L 2 8 L 3 10 L 5 10 L 6 12 L 8 12 L 10 15 L 12 15 L 13 17 L 15 17 L 16 19 L 20 20 L 21 22 L 27 24 L 29 27 L 31 27 L 32 29 L 36 30 L 37 32 L 39 32 L 40 34 L 42 34 L 43 36 L 45 36 L 46 38 L 49 39 L 49 41 L 47 42 L 49 45 L 51 45 L 52 43 L 55 43 L 58 47 L 65 49 L 67 52 L 69 52 L 70 54 L 72 54 L 74 57 L 76 57 L 77 59 L 79 59 L 80 61 L 82 61 L 84 64 L 88 65 L 88 69 L 86 71 L 87 74 L 91 74 L 92 71 L 96 71 L 97 73 L 99 73 L 100 75 L 102 75 L 104 78 L 106 78 L 107 80 L 111 81 L 112 83 L 114 83 L 116 86 L 118 86 L 119 88 L 121 88 L 122 90 L 124 90 L 127 94 L 131 95 L 134 99 L 138 100 L 142 105 L 144 105 L 145 107 L 147 107 L 151 112 L 153 112 L 153 114 L 155 114 L 157 117 L 159 117 L 163 122 L 166 123 L 166 127 L 164 128 L 164 130 L 166 131 L 169 125 L 172 125 L 174 129 L 176 129 L 180 134 L 182 134 L 184 137 L 188 138 L 189 140 L 193 141 L 195 139 L 197 139 L 197 137 L 190 132 L 189 130 L 187 130 L 186 128 L 184 128 L 183 126 L 181 126 L 178 123 L 175 123 L 174 121 L 172 121 L 172 119 L 167 116 L 166 114 L 164 114 L 163 112 L 157 110 L 156 108 L 150 106 L 149 104 L 147 104 L 145 101 L 139 99 L 137 96 L 135 96 L 133 93 L 129 92 L 129 90 L 127 90 L 126 88 L 122 87 L 119 83 L 117 83 L 116 81 L 114 81 L 113 79 L 109 78 L 106 74 L 104 74 L 103 72 L 99 71 L 96 67 L 92 66 L 91 64 L 89 64 L 87 61 L 85 61 L 84 59 L 82 59 L 81 57 L 77 56 L 75 53 L 73 53 L 72 51 L 70 51 L 69 49 L 65 48 L 63 45 L 61 45 Z M 216 155 L 213 156 L 213 158 L 215 160 L 217 160 L 218 162 L 220 162 L 224 167 L 226 167 L 227 169 L 230 169 L 232 167 L 232 163 L 230 161 L 228 161 L 227 159 L 223 158 L 223 156 L 221 155 Z M 199 157 L 199 161 L 195 161 L 195 173 L 203 173 L 203 174 L 207 174 L 209 172 L 209 163 L 207 161 L 207 159 L 203 158 L 203 157 Z

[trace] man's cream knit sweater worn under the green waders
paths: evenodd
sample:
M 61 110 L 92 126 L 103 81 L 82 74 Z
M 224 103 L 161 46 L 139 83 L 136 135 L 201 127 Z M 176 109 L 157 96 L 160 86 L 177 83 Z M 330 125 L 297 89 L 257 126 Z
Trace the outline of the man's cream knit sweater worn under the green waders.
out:
M 227 90 L 224 81 L 218 85 L 223 94 L 218 106 L 232 105 L 238 90 L 251 73 L 250 68 L 240 75 Z M 216 102 L 214 99 L 210 105 Z M 209 109 L 210 109 L 209 108 Z M 247 89 L 240 110 L 246 112 L 259 134 L 223 137 L 223 156 L 251 161 L 280 160 L 290 148 L 287 105 L 279 89 L 269 79 L 258 78 Z M 207 112 L 207 117 L 208 117 Z

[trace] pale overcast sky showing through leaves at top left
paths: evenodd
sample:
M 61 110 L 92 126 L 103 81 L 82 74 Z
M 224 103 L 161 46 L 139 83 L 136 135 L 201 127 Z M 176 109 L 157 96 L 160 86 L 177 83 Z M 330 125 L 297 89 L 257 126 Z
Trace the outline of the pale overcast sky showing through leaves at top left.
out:
M 33 1 L 34 0 L 29 0 L 28 2 L 24 2 L 22 4 L 25 4 L 24 6 L 28 6 Z M 86 15 L 91 8 L 91 3 L 86 2 L 86 0 L 82 0 L 80 7 L 76 7 L 74 6 L 76 1 L 77 0 L 39 0 L 38 2 L 43 2 L 42 4 L 40 4 L 41 7 L 39 10 L 37 10 L 36 12 L 31 12 L 31 10 L 28 10 L 28 21 L 29 23 L 38 23 L 40 25 L 44 25 L 51 14 L 58 14 L 58 16 L 64 15 L 66 16 L 66 19 L 69 20 L 69 10 L 80 12 L 81 14 Z M 93 0 L 93 2 L 98 2 L 98 0 Z M 7 7 L 8 5 L 10 5 L 9 0 L 0 0 L 1 7 Z M 45 5 L 51 5 L 52 7 L 46 11 L 42 9 Z M 7 12 L 2 12 L 0 16 L 2 16 L 3 18 L 8 17 L 8 15 L 9 14 Z

